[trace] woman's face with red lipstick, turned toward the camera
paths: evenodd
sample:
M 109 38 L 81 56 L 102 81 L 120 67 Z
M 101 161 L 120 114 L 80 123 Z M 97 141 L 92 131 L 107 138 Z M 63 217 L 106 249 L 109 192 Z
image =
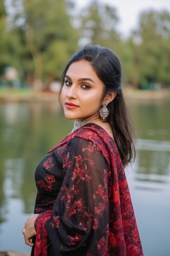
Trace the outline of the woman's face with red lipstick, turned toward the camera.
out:
M 61 99 L 68 119 L 96 119 L 99 117 L 104 84 L 86 60 L 72 63 L 67 69 Z

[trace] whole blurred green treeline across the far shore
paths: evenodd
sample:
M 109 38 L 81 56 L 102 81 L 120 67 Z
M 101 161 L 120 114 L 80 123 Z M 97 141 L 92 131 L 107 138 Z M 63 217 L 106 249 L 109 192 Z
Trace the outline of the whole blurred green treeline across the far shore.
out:
M 170 86 L 167 11 L 141 13 L 137 30 L 122 39 L 117 30 L 117 10 L 96 0 L 79 14 L 71 0 L 11 0 L 12 12 L 5 9 L 4 2 L 0 0 L 1 80 L 4 69 L 12 66 L 27 84 L 41 89 L 45 84 L 48 89 L 52 80 L 59 79 L 70 56 L 91 43 L 116 52 L 125 84 L 135 88 L 151 83 Z

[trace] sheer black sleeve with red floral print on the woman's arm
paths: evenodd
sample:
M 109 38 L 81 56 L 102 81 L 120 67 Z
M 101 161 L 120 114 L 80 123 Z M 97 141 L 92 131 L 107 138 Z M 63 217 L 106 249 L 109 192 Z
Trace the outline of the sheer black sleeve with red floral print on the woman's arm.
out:
M 57 153 L 62 157 L 63 183 L 52 212 L 39 214 L 36 230 L 48 236 L 54 255 L 105 255 L 108 164 L 99 148 L 85 139 L 74 138 Z

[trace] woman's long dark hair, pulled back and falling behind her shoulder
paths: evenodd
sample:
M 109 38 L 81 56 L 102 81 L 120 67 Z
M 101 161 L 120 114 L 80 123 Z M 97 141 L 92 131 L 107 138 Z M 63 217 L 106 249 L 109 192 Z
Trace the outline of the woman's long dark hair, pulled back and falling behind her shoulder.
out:
M 124 97 L 121 89 L 121 64 L 118 57 L 107 48 L 100 46 L 86 46 L 76 52 L 67 63 L 62 73 L 61 90 L 64 84 L 64 78 L 70 65 L 79 60 L 88 61 L 94 68 L 96 75 L 105 85 L 104 96 L 107 92 L 116 92 L 116 97 L 108 104 L 110 123 L 114 135 L 114 141 L 124 166 L 135 157 L 135 147 L 132 138 L 132 129 L 130 117 L 126 109 Z M 61 90 L 59 95 L 61 94 Z

